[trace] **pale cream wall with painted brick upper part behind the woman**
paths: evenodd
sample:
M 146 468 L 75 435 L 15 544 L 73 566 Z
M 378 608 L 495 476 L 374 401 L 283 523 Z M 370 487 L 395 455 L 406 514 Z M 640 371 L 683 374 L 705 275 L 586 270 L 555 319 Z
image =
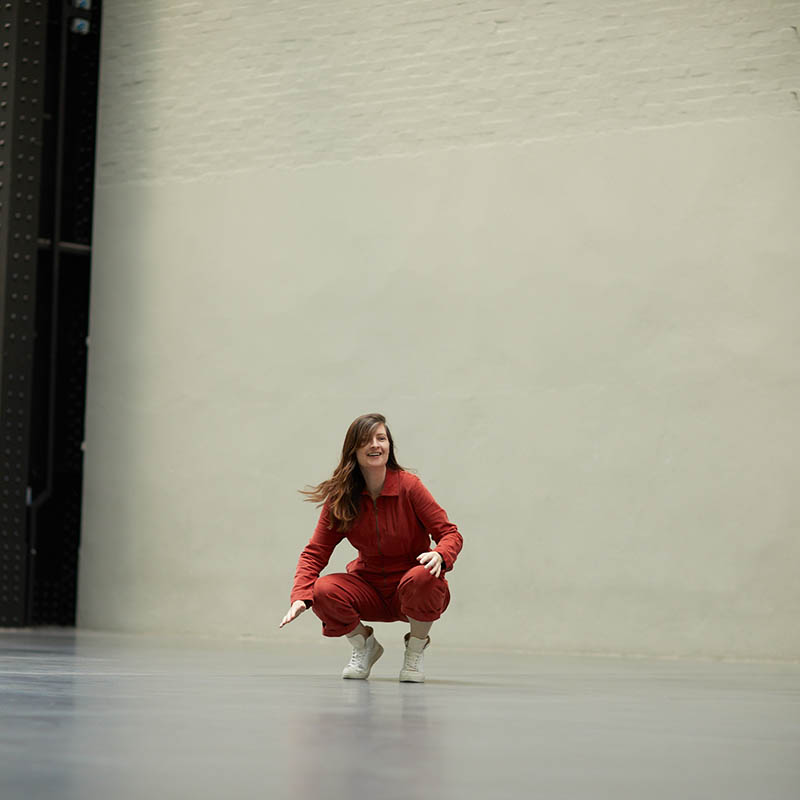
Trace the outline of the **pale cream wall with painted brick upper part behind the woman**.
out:
M 799 23 L 107 4 L 80 624 L 318 637 L 296 489 L 380 410 L 438 640 L 800 658 Z

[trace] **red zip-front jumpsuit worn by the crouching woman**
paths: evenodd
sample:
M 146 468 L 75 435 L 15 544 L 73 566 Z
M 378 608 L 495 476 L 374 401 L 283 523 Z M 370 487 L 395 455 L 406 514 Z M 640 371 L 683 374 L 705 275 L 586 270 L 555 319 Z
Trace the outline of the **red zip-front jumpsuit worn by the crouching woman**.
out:
M 347 538 L 358 558 L 346 573 L 319 577 L 331 553 Z M 417 562 L 436 543 L 444 559 L 438 578 Z M 327 503 L 311 541 L 300 554 L 290 603 L 303 600 L 322 620 L 325 636 L 344 636 L 361 620 L 422 622 L 439 619 L 450 602 L 444 571 L 461 550 L 461 534 L 422 481 L 410 472 L 386 470 L 377 500 L 364 489 L 361 510 L 342 533 L 331 525 Z

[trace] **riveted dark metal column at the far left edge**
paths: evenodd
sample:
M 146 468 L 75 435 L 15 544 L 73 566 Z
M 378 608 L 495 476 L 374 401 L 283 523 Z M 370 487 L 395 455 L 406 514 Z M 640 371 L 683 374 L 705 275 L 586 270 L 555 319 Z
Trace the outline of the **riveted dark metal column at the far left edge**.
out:
M 0 626 L 27 621 L 28 443 L 46 21 L 42 0 L 0 4 Z

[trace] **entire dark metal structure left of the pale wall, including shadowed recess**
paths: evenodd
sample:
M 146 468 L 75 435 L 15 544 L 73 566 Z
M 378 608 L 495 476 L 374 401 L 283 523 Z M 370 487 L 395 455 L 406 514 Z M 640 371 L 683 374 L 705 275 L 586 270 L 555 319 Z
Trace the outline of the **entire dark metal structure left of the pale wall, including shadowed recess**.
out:
M 97 0 L 0 0 L 0 627 L 75 620 Z

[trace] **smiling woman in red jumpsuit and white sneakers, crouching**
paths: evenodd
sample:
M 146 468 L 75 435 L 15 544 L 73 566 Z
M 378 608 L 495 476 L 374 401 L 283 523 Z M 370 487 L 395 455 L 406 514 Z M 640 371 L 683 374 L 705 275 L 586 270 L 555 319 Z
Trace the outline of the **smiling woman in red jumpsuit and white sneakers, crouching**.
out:
M 304 494 L 322 505 L 322 513 L 300 554 L 291 607 L 280 627 L 312 607 L 323 636 L 350 640 L 353 655 L 342 677 L 363 680 L 383 647 L 361 620 L 408 621 L 400 680 L 421 683 L 428 631 L 450 602 L 444 573 L 461 550 L 458 529 L 422 481 L 397 463 L 381 414 L 354 420 L 333 475 Z M 319 577 L 344 538 L 358 558 L 346 573 Z

